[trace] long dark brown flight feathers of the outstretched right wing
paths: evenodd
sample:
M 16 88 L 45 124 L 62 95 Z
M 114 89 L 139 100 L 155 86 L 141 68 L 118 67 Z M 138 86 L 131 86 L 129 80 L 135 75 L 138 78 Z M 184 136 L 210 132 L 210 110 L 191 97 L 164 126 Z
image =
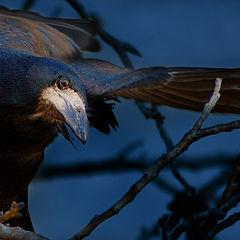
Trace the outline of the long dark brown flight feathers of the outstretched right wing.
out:
M 109 94 L 174 108 L 201 111 L 212 93 L 215 79 L 220 77 L 223 79 L 222 96 L 214 111 L 240 113 L 239 69 L 217 71 L 215 69 L 203 69 L 202 72 L 199 72 L 198 69 L 195 71 L 191 68 L 189 74 L 181 71 L 176 72 L 171 68 L 166 68 L 166 70 L 173 76 L 167 83 L 160 77 L 154 84 L 147 84 L 148 76 L 146 76 L 144 83 L 141 80 L 138 82 L 138 85 L 141 85 L 141 82 L 143 83 L 142 87 L 132 88 L 132 84 L 130 84 L 128 87 L 131 91 L 126 91 L 125 89 L 128 87 L 124 86 L 124 88 L 117 89 Z M 149 69 L 149 71 L 154 72 L 155 69 Z

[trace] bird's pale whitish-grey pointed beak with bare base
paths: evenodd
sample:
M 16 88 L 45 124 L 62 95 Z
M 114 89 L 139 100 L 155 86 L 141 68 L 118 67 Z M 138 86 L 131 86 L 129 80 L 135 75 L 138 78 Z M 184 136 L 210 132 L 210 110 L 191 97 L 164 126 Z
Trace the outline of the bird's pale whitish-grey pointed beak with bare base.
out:
M 42 97 L 56 108 L 63 117 L 63 122 L 85 144 L 88 136 L 88 118 L 81 95 L 72 89 L 60 90 L 53 86 L 45 89 Z

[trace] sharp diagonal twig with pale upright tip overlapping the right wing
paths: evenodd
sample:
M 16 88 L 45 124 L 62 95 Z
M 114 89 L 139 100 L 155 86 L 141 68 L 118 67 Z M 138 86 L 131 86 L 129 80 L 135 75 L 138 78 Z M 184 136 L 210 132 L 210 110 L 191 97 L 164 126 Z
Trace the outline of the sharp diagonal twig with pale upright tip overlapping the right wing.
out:
M 85 238 L 102 222 L 118 214 L 122 208 L 124 208 L 127 204 L 135 199 L 135 197 L 144 189 L 145 186 L 147 186 L 156 176 L 158 176 L 160 171 L 166 165 L 172 162 L 194 142 L 195 135 L 201 128 L 203 122 L 206 120 L 210 114 L 210 111 L 213 109 L 220 97 L 219 91 L 221 82 L 222 80 L 220 78 L 216 79 L 214 92 L 209 102 L 205 104 L 202 114 L 194 124 L 193 128 L 182 138 L 176 147 L 168 154 L 163 155 L 161 158 L 157 159 L 155 164 L 149 170 L 147 170 L 146 173 L 136 183 L 130 187 L 128 192 L 117 203 L 115 203 L 112 207 L 107 209 L 102 214 L 96 215 L 84 228 L 82 228 L 80 232 L 75 234 L 71 240 L 79 240 Z

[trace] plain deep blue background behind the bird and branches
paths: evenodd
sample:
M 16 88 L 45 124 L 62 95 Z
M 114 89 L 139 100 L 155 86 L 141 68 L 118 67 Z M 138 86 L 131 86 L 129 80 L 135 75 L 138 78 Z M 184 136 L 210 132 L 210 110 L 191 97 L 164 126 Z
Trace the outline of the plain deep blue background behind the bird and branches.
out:
M 105 30 L 133 44 L 143 55 L 131 56 L 135 67 L 163 66 L 240 66 L 240 2 L 235 1 L 157 1 L 101 0 L 81 1 L 86 10 L 96 13 Z M 23 1 L 0 1 L 8 8 L 20 8 Z M 76 18 L 77 13 L 64 0 L 39 0 L 33 10 L 45 15 Z M 98 54 L 85 54 L 121 65 L 109 46 Z M 161 107 L 166 116 L 164 126 L 174 143 L 189 130 L 197 113 Z M 76 142 L 76 151 L 63 137 L 47 149 L 44 165 L 99 161 L 114 156 L 127 144 L 142 140 L 133 156 L 145 154 L 149 161 L 164 153 L 165 146 L 153 121 L 147 121 L 131 101 L 117 104 L 120 123 L 110 135 L 90 129 L 88 143 Z M 236 120 L 238 116 L 212 115 L 205 126 Z M 219 134 L 193 144 L 184 156 L 239 154 L 239 131 Z M 183 171 L 193 186 L 199 186 L 218 169 L 199 172 Z M 167 172 L 161 173 L 180 190 L 182 187 Z M 30 186 L 30 212 L 38 233 L 51 239 L 66 239 L 80 230 L 95 214 L 115 203 L 141 173 L 96 174 L 36 180 Z M 223 176 L 226 177 L 226 176 Z M 141 227 L 151 226 L 163 213 L 170 195 L 151 184 L 119 215 L 106 221 L 88 239 L 136 239 Z M 218 235 L 218 239 L 238 239 L 239 223 Z

